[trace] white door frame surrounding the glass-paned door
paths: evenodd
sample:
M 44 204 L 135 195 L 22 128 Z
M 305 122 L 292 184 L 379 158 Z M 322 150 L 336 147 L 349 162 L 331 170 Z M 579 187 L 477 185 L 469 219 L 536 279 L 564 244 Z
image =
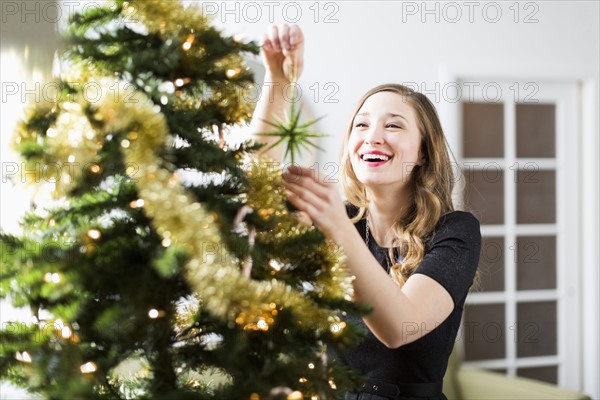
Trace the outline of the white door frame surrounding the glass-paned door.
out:
M 532 78 L 532 76 L 535 76 Z M 461 148 L 461 101 L 454 101 L 448 91 L 452 85 L 465 78 L 477 78 L 480 81 L 514 81 L 514 82 L 548 82 L 548 83 L 576 83 L 578 86 L 578 121 L 579 132 L 577 143 L 579 162 L 577 181 L 579 210 L 576 213 L 578 232 L 578 246 L 574 248 L 579 252 L 578 287 L 579 297 L 577 319 L 579 320 L 578 346 L 575 351 L 579 353 L 579 365 L 572 366 L 578 371 L 578 379 L 571 378 L 565 384 L 568 389 L 583 391 L 592 398 L 600 398 L 600 382 L 597 374 L 600 371 L 600 252 L 597 243 L 600 242 L 599 229 L 599 189 L 600 189 L 600 164 L 599 164 L 599 116 L 600 104 L 598 80 L 590 76 L 574 74 L 550 74 L 545 71 L 523 74 L 507 73 L 505 68 L 487 68 L 482 74 L 481 68 L 475 66 L 452 66 L 441 64 L 438 69 L 439 85 L 441 88 L 441 101 L 436 104 L 442 126 L 446 133 L 448 144 L 455 153 L 457 160 L 462 159 Z M 529 79 L 528 79 L 529 78 Z M 449 97 L 444 101 L 444 94 Z M 557 138 L 558 139 L 558 138 Z M 558 149 L 557 149 L 558 151 Z M 557 199 L 558 201 L 558 199 Z M 560 203 L 558 203 L 560 204 Z M 557 210 L 557 214 L 560 211 Z M 557 273 L 560 274 L 559 271 Z M 560 322 L 559 322 L 560 323 Z M 563 327 L 558 326 L 558 330 Z M 558 344 L 560 346 L 560 343 Z M 571 349 L 568 349 L 571 350 Z M 574 376 L 571 374 L 571 376 Z

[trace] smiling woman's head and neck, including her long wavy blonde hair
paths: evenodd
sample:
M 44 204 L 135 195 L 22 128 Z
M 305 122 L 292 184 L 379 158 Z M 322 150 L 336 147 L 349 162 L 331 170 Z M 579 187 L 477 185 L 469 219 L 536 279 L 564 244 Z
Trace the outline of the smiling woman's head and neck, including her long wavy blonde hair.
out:
M 355 223 L 368 213 L 370 200 L 391 198 L 397 204 L 391 228 L 372 235 L 383 247 L 404 246 L 402 262 L 392 268 L 403 284 L 423 258 L 422 239 L 453 210 L 455 178 L 444 133 L 427 97 L 402 85 L 369 90 L 354 114 L 342 148 L 342 187 L 359 208 Z M 365 160 L 365 153 L 382 149 L 390 153 L 385 163 Z M 377 226 L 373 218 L 371 225 Z

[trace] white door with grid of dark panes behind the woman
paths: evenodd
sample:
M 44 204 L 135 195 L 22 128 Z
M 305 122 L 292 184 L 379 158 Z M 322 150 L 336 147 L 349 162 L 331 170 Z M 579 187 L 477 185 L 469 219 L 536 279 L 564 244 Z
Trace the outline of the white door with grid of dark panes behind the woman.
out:
M 457 156 L 483 243 L 466 364 L 580 389 L 579 86 L 467 82 Z

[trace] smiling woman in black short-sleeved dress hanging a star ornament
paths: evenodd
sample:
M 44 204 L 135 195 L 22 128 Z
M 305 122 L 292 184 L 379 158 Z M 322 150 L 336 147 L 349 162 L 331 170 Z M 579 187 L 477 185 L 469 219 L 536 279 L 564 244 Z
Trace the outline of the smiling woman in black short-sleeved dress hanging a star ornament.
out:
M 272 28 L 263 45 L 265 79 L 285 83 L 290 65 L 302 65 L 303 48 L 299 27 Z M 283 115 L 283 86 L 268 85 L 253 132 L 266 130 L 263 120 L 273 113 Z M 434 106 L 397 84 L 363 96 L 343 141 L 346 202 L 315 171 L 292 166 L 283 178 L 290 202 L 344 249 L 355 300 L 373 308 L 357 321 L 368 328 L 365 340 L 338 355 L 367 379 L 346 398 L 445 399 L 441 382 L 481 234 L 477 219 L 452 205 L 454 176 Z

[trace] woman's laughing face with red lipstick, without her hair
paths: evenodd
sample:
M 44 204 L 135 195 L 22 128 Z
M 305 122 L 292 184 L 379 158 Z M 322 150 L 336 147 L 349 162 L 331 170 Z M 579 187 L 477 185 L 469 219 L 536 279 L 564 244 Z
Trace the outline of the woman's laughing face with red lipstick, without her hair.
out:
M 422 164 L 416 113 L 403 96 L 370 96 L 352 123 L 348 151 L 358 180 L 367 187 L 400 190 L 415 165 Z

